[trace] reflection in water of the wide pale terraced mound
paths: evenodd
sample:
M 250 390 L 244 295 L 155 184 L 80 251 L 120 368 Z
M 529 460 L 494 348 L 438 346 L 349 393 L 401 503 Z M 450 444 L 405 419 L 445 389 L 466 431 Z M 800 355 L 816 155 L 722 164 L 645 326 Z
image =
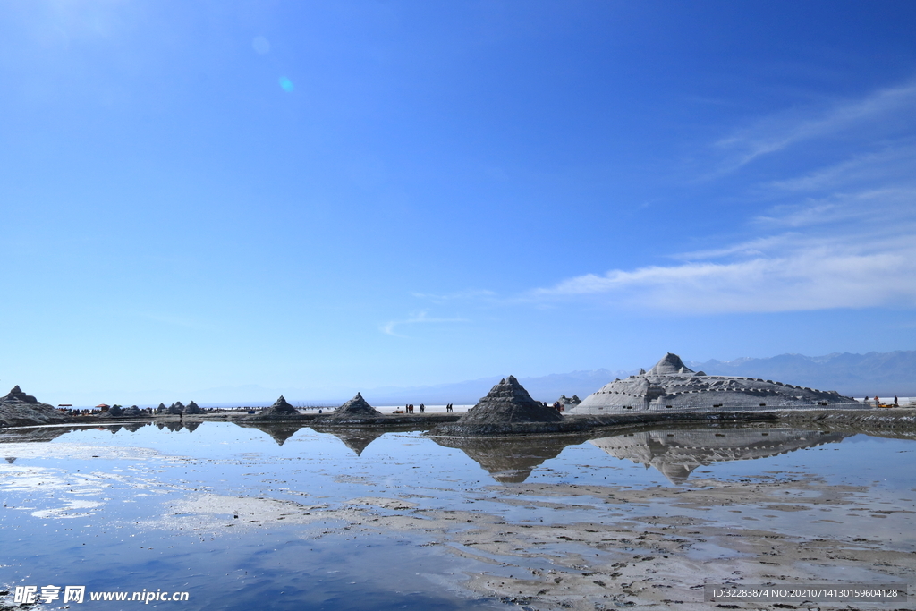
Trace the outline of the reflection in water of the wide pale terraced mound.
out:
M 700 465 L 766 458 L 841 442 L 848 436 L 794 429 L 665 430 L 603 437 L 591 443 L 617 458 L 653 466 L 672 484 L 682 484 Z

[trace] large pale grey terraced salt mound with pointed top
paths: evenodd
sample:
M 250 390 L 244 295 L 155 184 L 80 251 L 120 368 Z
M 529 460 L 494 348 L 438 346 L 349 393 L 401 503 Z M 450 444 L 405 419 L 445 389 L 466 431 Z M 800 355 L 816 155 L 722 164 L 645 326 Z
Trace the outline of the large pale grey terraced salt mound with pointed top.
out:
M 684 366 L 680 356 L 669 353 L 648 373 L 614 380 L 567 409 L 567 413 L 780 411 L 825 407 L 862 408 L 855 399 L 842 397 L 834 390 L 815 390 L 754 377 L 706 376 Z

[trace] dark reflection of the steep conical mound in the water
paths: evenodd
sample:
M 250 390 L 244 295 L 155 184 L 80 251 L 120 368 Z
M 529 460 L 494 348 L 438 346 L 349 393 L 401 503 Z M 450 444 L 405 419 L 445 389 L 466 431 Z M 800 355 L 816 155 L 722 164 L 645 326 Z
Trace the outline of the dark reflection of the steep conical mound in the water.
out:
M 528 479 L 539 464 L 556 458 L 567 445 L 582 443 L 583 438 L 571 436 L 534 439 L 487 439 L 481 437 L 433 437 L 447 448 L 456 448 L 484 467 L 497 482 L 520 484 Z

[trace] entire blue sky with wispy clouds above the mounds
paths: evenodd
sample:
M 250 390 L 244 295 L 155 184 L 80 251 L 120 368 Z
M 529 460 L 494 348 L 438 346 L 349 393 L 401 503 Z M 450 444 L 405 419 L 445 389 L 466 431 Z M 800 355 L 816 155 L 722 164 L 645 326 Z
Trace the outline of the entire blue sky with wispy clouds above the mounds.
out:
M 0 384 L 913 349 L 913 31 L 911 2 L 5 2 Z

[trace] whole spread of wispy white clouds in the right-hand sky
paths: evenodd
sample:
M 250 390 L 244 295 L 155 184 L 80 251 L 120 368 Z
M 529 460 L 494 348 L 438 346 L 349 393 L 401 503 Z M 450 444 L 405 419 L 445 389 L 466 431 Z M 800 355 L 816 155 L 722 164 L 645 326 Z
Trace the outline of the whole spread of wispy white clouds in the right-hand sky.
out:
M 673 255 L 680 262 L 669 266 L 568 278 L 527 297 L 684 313 L 916 306 L 914 107 L 910 82 L 759 120 L 716 143 L 725 151 L 719 174 L 806 140 L 843 141 L 821 149 L 830 159 L 821 168 L 752 190 L 751 202 L 770 202 L 748 219 L 757 236 Z

